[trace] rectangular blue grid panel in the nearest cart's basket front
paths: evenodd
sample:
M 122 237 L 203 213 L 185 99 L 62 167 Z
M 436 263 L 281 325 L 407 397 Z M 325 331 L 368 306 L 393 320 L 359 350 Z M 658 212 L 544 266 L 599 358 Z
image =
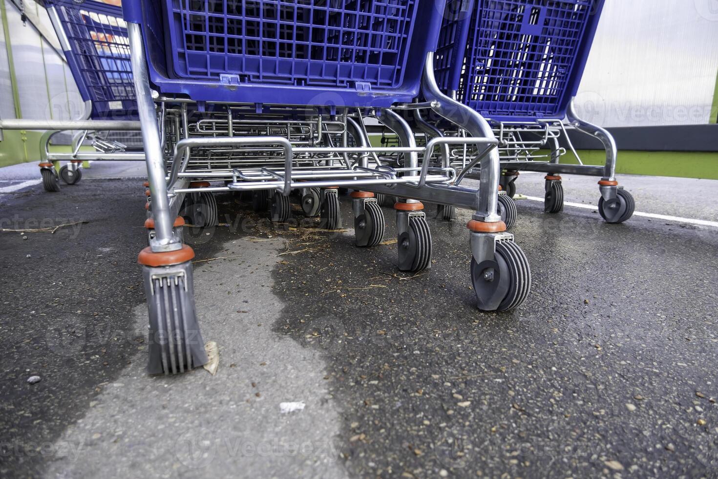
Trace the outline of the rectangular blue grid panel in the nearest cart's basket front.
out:
M 164 0 L 174 75 L 394 88 L 416 1 Z

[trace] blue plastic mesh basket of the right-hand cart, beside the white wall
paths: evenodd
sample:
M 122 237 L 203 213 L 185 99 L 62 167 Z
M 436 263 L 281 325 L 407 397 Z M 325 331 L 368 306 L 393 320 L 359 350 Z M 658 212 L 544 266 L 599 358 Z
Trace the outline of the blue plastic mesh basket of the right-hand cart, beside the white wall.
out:
M 575 93 L 601 0 L 476 0 L 460 74 L 445 90 L 491 118 L 562 116 Z M 442 47 L 456 48 L 459 36 Z

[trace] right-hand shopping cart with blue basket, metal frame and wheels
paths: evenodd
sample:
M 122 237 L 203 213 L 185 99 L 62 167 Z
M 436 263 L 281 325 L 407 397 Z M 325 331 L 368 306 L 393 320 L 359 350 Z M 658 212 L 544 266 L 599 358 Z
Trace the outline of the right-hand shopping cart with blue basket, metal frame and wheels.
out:
M 560 174 L 600 177 L 599 212 L 623 223 L 635 203 L 615 179 L 617 149 L 608 131 L 577 116 L 573 99 L 604 0 L 449 0 L 437 48 L 435 73 L 444 93 L 492 124 L 502 157 L 501 185 L 516 192 L 522 170 L 546 173 L 544 209 L 563 210 Z M 564 122 L 567 118 L 567 122 Z M 595 136 L 606 162 L 584 165 L 567 130 Z M 460 135 L 457 129 L 443 134 Z M 579 164 L 561 164 L 565 141 Z M 451 162 L 465 162 L 465 149 L 452 149 Z M 469 177 L 477 177 L 472 172 Z

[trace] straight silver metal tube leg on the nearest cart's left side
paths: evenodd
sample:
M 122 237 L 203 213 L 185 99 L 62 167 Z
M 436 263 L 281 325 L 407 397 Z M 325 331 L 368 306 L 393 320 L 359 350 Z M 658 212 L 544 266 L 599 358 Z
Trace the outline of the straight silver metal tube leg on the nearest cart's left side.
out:
M 130 58 L 134 86 L 137 94 L 137 109 L 142 124 L 142 140 L 147 164 L 147 178 L 152 200 L 152 215 L 155 221 L 156 237 L 152 241 L 152 251 L 176 251 L 182 248 L 182 243 L 172 233 L 174 217 L 169 210 L 167 198 L 167 183 L 165 182 L 164 155 L 162 154 L 162 140 L 159 138 L 159 124 L 157 113 L 152 101 L 152 92 L 149 88 L 149 74 L 144 58 L 142 34 L 138 24 L 127 25 L 130 40 Z

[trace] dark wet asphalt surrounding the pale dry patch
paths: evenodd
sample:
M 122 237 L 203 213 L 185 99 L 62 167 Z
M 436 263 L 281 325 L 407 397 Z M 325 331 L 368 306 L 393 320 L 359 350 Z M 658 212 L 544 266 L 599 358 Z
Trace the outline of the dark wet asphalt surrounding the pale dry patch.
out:
M 19 215 L 10 228 L 89 221 L 27 240 L 0 233 L 1 475 L 47 473 L 55 457 L 37 450 L 52 449 L 107 383 L 145 359 L 135 318 L 144 302 L 135 263 L 143 190 L 141 180 L 95 180 L 61 196 L 39 187 L 0 196 L 1 217 Z M 549 217 L 526 200 L 518 208 L 513 233 L 533 289 L 523 307 L 500 315 L 475 308 L 466 211 L 452 223 L 429 220 L 432 270 L 415 277 L 396 270 L 396 244 L 358 249 L 351 231 L 259 222 L 218 228 L 211 241 L 200 233 L 194 247 L 206 259 L 248 236 L 284 239 L 276 253 L 288 254 L 266 266 L 281 302 L 271 330 L 325 361 L 346 475 L 716 477 L 718 232 L 646 218 L 606 225 L 577 208 Z M 257 219 L 228 195 L 220 213 L 230 224 Z M 350 218 L 348 198 L 342 213 Z M 393 212 L 384 213 L 391 239 Z M 42 381 L 29 385 L 34 374 Z M 192 401 L 191 390 L 180 394 Z M 220 474 L 231 475 L 263 474 Z

